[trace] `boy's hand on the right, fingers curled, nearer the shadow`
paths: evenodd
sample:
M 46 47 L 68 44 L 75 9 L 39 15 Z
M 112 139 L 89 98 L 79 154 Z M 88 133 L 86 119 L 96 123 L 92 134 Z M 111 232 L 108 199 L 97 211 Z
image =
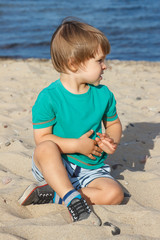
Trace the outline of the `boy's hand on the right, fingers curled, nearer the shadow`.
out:
M 98 146 L 106 153 L 113 154 L 116 151 L 117 143 L 114 142 L 112 138 L 106 133 L 97 133 L 99 136 L 96 137 L 96 142 Z

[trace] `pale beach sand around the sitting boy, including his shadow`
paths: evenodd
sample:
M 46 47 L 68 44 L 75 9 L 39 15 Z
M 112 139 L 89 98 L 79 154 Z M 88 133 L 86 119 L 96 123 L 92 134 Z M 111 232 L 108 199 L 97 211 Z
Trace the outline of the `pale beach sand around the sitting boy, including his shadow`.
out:
M 131 195 L 118 206 L 94 206 L 107 226 L 68 223 L 56 204 L 20 206 L 18 198 L 35 182 L 31 109 L 38 93 L 58 73 L 49 60 L 0 60 L 0 239 L 160 239 L 160 63 L 109 61 L 103 84 L 114 92 L 123 136 L 107 162 Z

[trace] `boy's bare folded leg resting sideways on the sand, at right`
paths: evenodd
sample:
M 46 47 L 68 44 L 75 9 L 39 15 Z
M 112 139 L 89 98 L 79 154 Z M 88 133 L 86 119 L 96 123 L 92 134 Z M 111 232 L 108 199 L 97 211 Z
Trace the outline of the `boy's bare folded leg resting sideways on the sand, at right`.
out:
M 124 197 L 120 185 L 110 178 L 97 178 L 79 192 L 90 205 L 120 204 Z

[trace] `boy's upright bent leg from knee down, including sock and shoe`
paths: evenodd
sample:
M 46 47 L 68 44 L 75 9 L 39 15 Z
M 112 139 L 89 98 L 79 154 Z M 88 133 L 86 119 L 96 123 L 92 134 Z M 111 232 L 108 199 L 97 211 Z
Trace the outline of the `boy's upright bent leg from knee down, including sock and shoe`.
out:
M 63 165 L 59 148 L 54 142 L 40 143 L 35 149 L 34 161 L 46 182 L 61 198 L 74 189 Z M 76 191 L 74 193 L 77 194 Z M 83 198 L 76 198 L 76 196 L 72 198 L 71 202 L 67 202 L 72 220 L 76 222 L 83 220 L 83 224 L 100 226 L 100 219 L 91 211 L 86 201 Z M 77 207 L 76 210 L 75 207 Z

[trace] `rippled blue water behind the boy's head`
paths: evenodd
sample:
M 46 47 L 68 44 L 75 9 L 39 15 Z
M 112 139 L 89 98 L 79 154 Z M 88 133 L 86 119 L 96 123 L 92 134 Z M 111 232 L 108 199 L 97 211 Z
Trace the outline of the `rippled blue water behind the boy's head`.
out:
M 0 57 L 50 58 L 66 16 L 102 30 L 109 59 L 160 61 L 160 0 L 0 0 Z

